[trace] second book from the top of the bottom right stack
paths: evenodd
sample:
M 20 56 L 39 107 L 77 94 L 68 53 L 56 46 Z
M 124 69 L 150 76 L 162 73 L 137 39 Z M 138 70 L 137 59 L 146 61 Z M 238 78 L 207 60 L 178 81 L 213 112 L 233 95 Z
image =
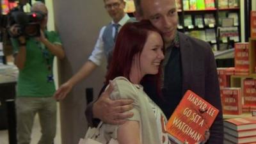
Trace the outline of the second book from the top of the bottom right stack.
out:
M 256 129 L 236 131 L 234 129 L 229 129 L 228 127 L 224 127 L 224 132 L 236 138 L 245 137 L 245 136 L 256 136 Z

